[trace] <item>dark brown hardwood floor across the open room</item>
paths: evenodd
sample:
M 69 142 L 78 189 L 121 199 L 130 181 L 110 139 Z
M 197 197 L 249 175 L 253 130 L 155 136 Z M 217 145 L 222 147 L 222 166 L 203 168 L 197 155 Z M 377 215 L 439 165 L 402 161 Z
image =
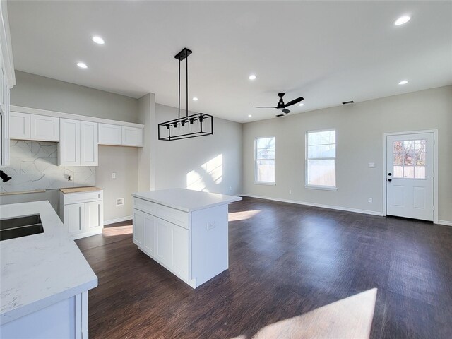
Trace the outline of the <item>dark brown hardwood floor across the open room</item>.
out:
M 131 222 L 78 240 L 99 278 L 90 338 L 251 338 L 374 287 L 371 338 L 452 338 L 452 227 L 256 198 L 230 220 L 230 269 L 196 290 L 121 234 Z

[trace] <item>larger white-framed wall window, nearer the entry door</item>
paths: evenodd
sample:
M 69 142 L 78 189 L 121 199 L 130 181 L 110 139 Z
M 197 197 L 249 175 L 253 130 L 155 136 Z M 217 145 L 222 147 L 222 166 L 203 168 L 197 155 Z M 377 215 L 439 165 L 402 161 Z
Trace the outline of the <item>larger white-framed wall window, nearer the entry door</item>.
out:
M 306 133 L 306 186 L 335 189 L 336 131 Z

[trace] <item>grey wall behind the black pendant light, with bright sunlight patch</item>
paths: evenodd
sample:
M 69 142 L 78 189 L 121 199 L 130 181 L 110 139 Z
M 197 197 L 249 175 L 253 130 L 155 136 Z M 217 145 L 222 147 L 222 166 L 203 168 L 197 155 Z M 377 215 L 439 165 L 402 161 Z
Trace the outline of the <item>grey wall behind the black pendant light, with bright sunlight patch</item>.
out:
M 156 112 L 158 122 L 177 118 L 174 107 L 157 104 Z M 214 118 L 213 129 L 213 136 L 157 142 L 156 189 L 242 193 L 242 124 Z

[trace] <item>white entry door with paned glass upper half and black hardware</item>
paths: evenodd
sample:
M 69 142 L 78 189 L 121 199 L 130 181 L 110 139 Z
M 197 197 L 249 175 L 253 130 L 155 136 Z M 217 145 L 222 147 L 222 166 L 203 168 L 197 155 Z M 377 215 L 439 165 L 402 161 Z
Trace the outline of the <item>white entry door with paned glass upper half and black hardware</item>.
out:
M 386 136 L 386 214 L 433 221 L 434 133 Z

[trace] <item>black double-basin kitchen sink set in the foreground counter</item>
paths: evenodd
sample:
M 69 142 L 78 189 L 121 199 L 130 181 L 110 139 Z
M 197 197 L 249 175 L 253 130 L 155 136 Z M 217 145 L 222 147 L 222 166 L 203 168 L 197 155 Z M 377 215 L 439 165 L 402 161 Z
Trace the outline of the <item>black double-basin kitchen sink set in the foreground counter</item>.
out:
M 39 214 L 0 220 L 0 241 L 44 233 Z

